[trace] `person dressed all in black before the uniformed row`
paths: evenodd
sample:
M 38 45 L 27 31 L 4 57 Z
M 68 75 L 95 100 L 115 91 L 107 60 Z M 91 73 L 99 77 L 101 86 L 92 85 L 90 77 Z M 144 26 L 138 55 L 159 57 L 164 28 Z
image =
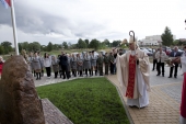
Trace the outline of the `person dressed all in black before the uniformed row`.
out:
M 68 57 L 66 56 L 66 54 L 63 52 L 61 52 L 61 56 L 59 57 L 60 60 L 60 66 L 61 66 L 61 70 L 62 70 L 62 75 L 63 75 L 63 79 L 69 79 L 69 72 L 68 72 Z

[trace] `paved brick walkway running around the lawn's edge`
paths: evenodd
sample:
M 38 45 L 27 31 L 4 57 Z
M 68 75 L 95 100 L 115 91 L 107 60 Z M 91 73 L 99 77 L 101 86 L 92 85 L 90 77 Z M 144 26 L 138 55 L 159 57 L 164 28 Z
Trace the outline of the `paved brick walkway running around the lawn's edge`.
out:
M 135 124 L 178 124 L 183 76 L 181 76 L 182 70 L 179 70 L 176 79 L 170 79 L 167 78 L 168 72 L 168 67 L 165 67 L 165 77 L 158 77 L 156 71 L 151 71 L 150 104 L 147 108 L 137 109 L 127 106 L 126 111 L 129 112 Z M 116 75 L 108 76 L 107 78 L 118 87 Z M 61 81 L 68 80 L 61 78 L 47 79 L 45 76 L 42 80 L 35 80 L 35 86 L 39 87 Z M 123 99 L 126 102 L 126 98 Z

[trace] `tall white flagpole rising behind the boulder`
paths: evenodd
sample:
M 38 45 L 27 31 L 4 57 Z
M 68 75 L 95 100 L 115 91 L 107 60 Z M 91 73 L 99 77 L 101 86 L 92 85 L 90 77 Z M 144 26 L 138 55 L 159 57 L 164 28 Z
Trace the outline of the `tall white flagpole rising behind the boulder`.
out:
M 13 40 L 14 40 L 14 46 L 15 46 L 15 55 L 19 55 L 16 22 L 15 22 L 15 12 L 14 12 L 13 0 L 10 0 L 10 3 L 11 3 L 11 18 L 12 18 L 12 26 L 13 26 Z

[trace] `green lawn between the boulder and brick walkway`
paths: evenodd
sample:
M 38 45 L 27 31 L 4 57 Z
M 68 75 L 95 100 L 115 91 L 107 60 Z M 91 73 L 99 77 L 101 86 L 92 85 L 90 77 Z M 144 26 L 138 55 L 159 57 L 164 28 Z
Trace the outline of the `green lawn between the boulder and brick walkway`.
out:
M 86 78 L 38 87 L 74 124 L 129 124 L 116 88 L 106 78 Z

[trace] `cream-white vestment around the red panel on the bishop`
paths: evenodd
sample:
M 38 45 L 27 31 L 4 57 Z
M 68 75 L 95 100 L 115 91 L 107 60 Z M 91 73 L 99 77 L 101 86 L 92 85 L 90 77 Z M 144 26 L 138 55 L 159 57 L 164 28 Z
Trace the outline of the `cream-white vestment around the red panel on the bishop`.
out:
M 140 49 L 137 49 L 139 57 L 139 65 L 136 66 L 136 84 L 132 99 L 127 98 L 127 105 L 136 105 L 138 108 L 143 108 L 149 104 L 149 95 L 148 89 L 150 89 L 149 84 L 149 57 L 142 53 Z M 128 55 L 127 55 L 128 54 Z M 127 53 L 120 58 L 117 58 L 117 78 L 123 89 L 123 95 L 126 94 L 127 86 L 128 86 L 128 67 L 123 66 L 128 63 L 126 59 L 127 56 L 135 55 L 135 52 Z M 119 56 L 117 56 L 119 57 Z M 123 58 L 121 58 L 123 57 Z M 128 57 L 129 59 L 129 57 Z M 143 72 L 142 72 L 143 71 Z M 123 77 L 123 78 L 120 78 Z M 146 81 L 144 81 L 146 79 Z M 138 84 L 138 86 L 137 86 Z

